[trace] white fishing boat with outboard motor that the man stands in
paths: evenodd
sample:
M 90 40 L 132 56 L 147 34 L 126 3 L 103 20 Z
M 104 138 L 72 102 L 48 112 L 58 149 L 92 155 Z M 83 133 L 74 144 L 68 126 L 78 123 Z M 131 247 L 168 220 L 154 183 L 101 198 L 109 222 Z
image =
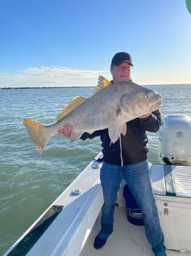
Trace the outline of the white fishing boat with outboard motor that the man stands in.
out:
M 190 133 L 190 116 L 165 116 L 158 134 L 158 163 L 150 164 L 167 256 L 191 255 Z M 4 256 L 153 255 L 144 225 L 130 221 L 130 217 L 136 221 L 140 214 L 133 212 L 136 209 L 129 211 L 124 181 L 118 191 L 113 236 L 103 249 L 94 249 L 103 204 L 101 160 L 100 152 Z

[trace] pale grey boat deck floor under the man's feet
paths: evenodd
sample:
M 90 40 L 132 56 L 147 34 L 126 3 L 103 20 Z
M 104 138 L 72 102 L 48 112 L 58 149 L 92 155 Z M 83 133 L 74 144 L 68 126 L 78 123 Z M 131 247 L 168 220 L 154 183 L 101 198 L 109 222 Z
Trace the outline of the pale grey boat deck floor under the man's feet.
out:
M 100 215 L 96 220 L 93 232 L 87 240 L 80 256 L 152 256 L 153 252 L 144 234 L 144 226 L 131 224 L 126 217 L 124 207 L 115 207 L 113 235 L 107 240 L 103 249 L 93 247 L 94 238 L 100 230 Z M 167 256 L 190 256 L 191 252 L 167 250 Z

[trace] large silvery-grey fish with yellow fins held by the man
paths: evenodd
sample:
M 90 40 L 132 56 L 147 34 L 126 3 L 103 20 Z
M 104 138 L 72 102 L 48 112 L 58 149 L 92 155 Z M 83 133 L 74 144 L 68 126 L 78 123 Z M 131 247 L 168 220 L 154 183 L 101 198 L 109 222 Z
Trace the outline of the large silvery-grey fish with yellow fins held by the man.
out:
M 77 96 L 58 115 L 53 125 L 42 125 L 31 119 L 22 121 L 41 154 L 50 138 L 58 134 L 65 124 L 73 125 L 70 142 L 78 140 L 84 132 L 108 128 L 110 140 L 115 143 L 120 134 L 126 134 L 126 122 L 154 111 L 161 107 L 161 102 L 161 96 L 155 91 L 133 82 L 116 82 L 98 90 L 88 99 Z

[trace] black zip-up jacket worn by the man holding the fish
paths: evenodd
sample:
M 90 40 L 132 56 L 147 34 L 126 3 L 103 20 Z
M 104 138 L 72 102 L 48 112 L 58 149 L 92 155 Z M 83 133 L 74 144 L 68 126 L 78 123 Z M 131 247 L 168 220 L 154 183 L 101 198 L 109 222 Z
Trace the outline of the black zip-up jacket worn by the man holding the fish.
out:
M 100 136 L 104 162 L 113 165 L 130 165 L 147 160 L 149 150 L 147 148 L 146 131 L 158 131 L 162 124 L 160 112 L 154 111 L 147 118 L 136 118 L 127 122 L 127 134 L 125 136 L 121 134 L 121 146 L 119 139 L 114 144 L 110 142 L 108 129 L 94 131 L 93 134 L 84 133 L 81 140 Z

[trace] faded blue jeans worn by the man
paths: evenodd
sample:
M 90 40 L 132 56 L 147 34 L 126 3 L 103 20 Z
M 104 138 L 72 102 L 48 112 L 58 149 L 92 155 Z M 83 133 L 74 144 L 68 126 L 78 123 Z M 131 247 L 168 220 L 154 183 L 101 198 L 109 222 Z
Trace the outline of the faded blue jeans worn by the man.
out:
M 107 238 L 113 232 L 115 202 L 121 180 L 124 179 L 141 209 L 147 240 L 153 252 L 165 251 L 164 235 L 159 223 L 147 160 L 126 166 L 103 163 L 100 179 L 104 205 L 101 213 L 101 232 L 98 236 Z

